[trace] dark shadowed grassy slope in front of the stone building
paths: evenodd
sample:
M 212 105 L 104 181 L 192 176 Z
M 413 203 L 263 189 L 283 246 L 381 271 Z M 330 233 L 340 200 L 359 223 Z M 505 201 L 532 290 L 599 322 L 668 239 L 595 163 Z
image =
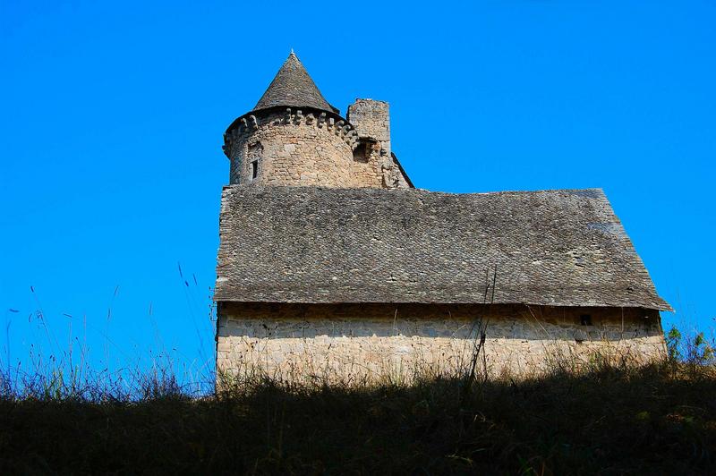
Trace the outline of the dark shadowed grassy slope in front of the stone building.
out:
M 0 400 L 0 472 L 707 473 L 712 367 L 192 399 Z

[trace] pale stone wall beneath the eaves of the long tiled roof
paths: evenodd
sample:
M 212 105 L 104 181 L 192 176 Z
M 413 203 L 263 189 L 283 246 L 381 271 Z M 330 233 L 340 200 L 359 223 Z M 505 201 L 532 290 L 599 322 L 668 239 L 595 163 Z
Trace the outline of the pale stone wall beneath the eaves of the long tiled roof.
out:
M 479 326 L 491 374 L 595 353 L 644 362 L 664 353 L 659 312 L 517 305 L 222 303 L 217 374 L 360 381 L 465 369 Z M 482 360 L 481 360 L 482 367 Z

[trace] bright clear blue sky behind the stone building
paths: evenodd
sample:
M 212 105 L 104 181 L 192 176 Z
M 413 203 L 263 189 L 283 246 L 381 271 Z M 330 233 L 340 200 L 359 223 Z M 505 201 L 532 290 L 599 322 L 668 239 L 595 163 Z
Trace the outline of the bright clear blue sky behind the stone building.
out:
M 342 111 L 390 103 L 418 187 L 603 188 L 666 325 L 713 327 L 714 25 L 707 1 L 0 0 L 0 361 L 85 332 L 98 365 L 201 368 L 222 133 L 292 47 Z

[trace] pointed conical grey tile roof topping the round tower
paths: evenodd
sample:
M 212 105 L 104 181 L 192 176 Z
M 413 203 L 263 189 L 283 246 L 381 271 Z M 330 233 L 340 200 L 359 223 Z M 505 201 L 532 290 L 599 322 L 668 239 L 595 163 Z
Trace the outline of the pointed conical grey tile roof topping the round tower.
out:
M 311 80 L 293 50 L 253 110 L 277 106 L 312 107 L 338 113 L 337 108 L 329 105 L 326 98 L 320 94 L 316 83 Z

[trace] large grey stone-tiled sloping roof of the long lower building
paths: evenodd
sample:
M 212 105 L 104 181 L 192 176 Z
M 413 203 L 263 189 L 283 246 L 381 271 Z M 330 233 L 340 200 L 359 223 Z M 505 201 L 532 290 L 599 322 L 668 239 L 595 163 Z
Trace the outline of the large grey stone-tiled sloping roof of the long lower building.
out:
M 601 190 L 224 189 L 218 302 L 670 310 Z M 496 271 L 495 271 L 496 270 Z

